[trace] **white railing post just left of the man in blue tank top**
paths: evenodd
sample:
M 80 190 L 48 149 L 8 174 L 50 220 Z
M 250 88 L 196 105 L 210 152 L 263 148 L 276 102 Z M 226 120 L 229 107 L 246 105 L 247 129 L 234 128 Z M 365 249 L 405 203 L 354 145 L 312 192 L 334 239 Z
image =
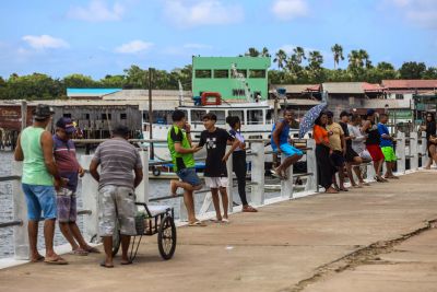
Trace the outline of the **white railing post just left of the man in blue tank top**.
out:
M 264 194 L 264 143 L 263 142 L 252 142 L 251 143 L 252 153 L 251 156 L 251 182 L 255 185 L 250 186 L 251 189 L 251 201 L 255 206 L 264 205 L 265 194 Z

